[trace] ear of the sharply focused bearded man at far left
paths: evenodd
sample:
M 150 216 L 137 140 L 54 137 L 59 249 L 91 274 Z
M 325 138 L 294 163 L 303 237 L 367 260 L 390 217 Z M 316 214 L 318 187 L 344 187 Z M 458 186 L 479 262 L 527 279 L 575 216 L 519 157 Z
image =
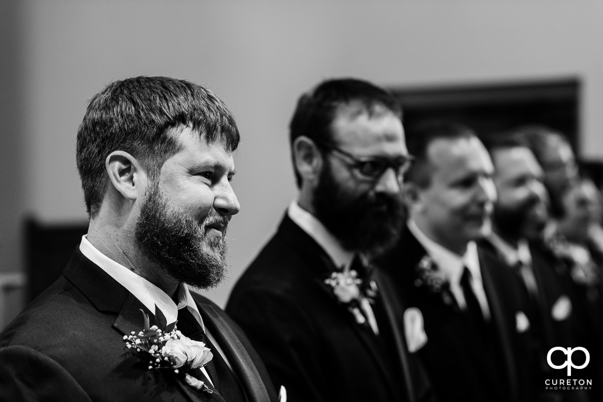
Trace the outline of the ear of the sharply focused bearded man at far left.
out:
M 147 175 L 130 153 L 113 151 L 107 156 L 105 167 L 111 184 L 125 199 L 134 201 L 144 192 Z

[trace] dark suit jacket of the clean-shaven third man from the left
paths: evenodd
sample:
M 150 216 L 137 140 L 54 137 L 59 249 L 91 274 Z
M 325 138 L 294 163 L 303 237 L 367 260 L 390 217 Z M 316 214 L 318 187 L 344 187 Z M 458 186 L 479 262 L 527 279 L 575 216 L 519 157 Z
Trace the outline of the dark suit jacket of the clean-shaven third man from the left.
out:
M 531 400 L 529 368 L 534 364 L 529 331 L 518 331 L 516 277 L 500 267 L 491 253 L 479 249 L 479 263 L 491 321 L 487 335 L 461 312 L 453 298 L 418 285 L 416 267 L 426 250 L 405 228 L 398 245 L 377 264 L 382 265 L 408 307 L 422 314 L 428 341 L 416 353 L 425 364 L 440 401 Z

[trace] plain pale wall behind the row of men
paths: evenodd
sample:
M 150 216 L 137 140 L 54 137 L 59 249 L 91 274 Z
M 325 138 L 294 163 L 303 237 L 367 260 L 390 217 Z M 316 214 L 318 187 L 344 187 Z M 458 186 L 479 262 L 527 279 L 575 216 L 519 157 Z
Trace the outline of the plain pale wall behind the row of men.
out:
M 600 158 L 602 20 L 598 0 L 2 0 L 0 273 L 24 271 L 25 217 L 86 222 L 75 133 L 110 81 L 189 79 L 235 114 L 242 208 L 229 282 L 207 292 L 224 305 L 295 196 L 287 125 L 302 91 L 334 76 L 387 87 L 576 77 L 578 153 Z

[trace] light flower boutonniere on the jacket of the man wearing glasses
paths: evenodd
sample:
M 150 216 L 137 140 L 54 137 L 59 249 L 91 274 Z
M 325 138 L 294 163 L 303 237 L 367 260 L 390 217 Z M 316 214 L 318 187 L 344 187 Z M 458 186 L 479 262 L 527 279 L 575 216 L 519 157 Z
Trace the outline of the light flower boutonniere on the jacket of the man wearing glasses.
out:
M 377 284 L 374 280 L 364 284 L 356 270 L 346 267 L 342 271 L 332 272 L 324 283 L 330 286 L 339 303 L 347 306 L 358 324 L 368 324 L 367 317 L 362 313 L 362 304 L 374 303 L 377 295 Z

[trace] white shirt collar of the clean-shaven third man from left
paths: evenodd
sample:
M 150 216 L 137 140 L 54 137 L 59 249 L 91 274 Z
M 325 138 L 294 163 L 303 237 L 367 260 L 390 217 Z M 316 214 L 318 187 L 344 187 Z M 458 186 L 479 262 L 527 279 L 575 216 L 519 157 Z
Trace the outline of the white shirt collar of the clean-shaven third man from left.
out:
M 414 221 L 408 221 L 408 229 L 417 238 L 418 242 L 425 247 L 426 252 L 437 265 L 438 270 L 444 274 L 449 282 L 460 283 L 464 267 L 467 267 L 474 281 L 481 282 L 482 274 L 479 268 L 478 247 L 475 241 L 470 241 L 467 244 L 466 252 L 463 256 L 460 256 L 427 237 Z

